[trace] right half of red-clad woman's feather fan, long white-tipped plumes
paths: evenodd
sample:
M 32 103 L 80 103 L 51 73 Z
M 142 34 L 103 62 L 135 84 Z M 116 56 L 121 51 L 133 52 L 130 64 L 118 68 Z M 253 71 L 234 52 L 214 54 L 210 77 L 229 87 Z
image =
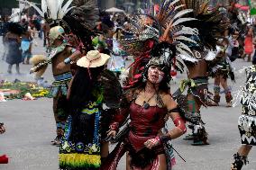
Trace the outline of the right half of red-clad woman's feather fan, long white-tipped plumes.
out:
M 156 16 L 162 25 L 164 31 L 162 37 L 165 40 L 171 40 L 172 43 L 176 43 L 177 51 L 181 54 L 187 54 L 191 58 L 194 58 L 194 53 L 189 49 L 186 43 L 197 44 L 197 41 L 191 40 L 185 35 L 197 35 L 198 31 L 193 28 L 184 27 L 184 22 L 191 22 L 197 19 L 193 17 L 184 17 L 193 12 L 193 9 L 184 9 L 185 4 L 182 4 L 179 0 L 164 0 L 160 7 L 160 13 Z

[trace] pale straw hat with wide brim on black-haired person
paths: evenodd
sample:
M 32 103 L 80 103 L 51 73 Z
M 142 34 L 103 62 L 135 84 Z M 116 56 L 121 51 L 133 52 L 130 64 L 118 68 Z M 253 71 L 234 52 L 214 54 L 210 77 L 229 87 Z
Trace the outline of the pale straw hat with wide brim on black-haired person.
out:
M 110 56 L 100 53 L 98 50 L 90 50 L 87 56 L 78 59 L 79 67 L 101 67 L 105 65 Z

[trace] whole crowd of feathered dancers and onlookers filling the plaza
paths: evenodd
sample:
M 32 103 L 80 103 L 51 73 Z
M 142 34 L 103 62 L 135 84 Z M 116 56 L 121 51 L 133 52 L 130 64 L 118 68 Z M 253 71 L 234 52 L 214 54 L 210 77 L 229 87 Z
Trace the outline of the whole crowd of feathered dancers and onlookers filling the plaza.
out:
M 123 16 L 99 11 L 93 2 L 74 0 L 68 8 L 59 1 L 60 8 L 46 3 L 46 9 L 36 9 L 43 19 L 8 23 L 4 59 L 9 74 L 13 65 L 20 73 L 19 64 L 31 60 L 38 81 L 51 64 L 56 122 L 51 142 L 59 147 L 60 169 L 114 170 L 125 153 L 126 169 L 171 169 L 171 140 L 187 128 L 192 133 L 185 139 L 193 146 L 210 144 L 201 107 L 219 105 L 220 86 L 226 106 L 233 105 L 227 79 L 234 81 L 236 58 L 247 58 L 252 66 L 244 68 L 242 147 L 233 155 L 231 170 L 248 163 L 256 145 L 253 26 L 234 4 L 209 10 L 206 2 L 192 1 L 166 0 L 157 10 L 149 4 L 141 13 Z M 48 58 L 32 57 L 35 32 L 44 36 Z M 127 68 L 128 56 L 134 62 Z M 187 72 L 187 79 L 171 94 L 177 72 Z M 209 78 L 215 79 L 214 93 Z M 175 125 L 171 130 L 165 127 L 169 120 Z M 116 144 L 111 152 L 110 143 Z

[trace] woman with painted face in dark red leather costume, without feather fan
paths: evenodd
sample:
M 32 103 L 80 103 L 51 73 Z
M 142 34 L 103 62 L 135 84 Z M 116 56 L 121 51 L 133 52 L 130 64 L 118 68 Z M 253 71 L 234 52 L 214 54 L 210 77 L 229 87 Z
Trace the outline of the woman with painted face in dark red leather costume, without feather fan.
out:
M 119 125 L 130 115 L 131 122 L 124 137 L 101 169 L 116 169 L 119 159 L 126 152 L 126 169 L 169 169 L 167 143 L 186 132 L 178 113 L 178 105 L 169 94 L 169 58 L 171 51 L 153 57 L 144 67 L 137 83 L 124 91 L 123 106 L 110 126 L 108 136 L 116 136 Z M 169 57 L 167 57 L 168 55 Z M 155 56 L 155 55 L 154 55 Z M 166 118 L 170 117 L 175 128 L 161 132 Z M 119 135 L 118 135 L 119 136 Z

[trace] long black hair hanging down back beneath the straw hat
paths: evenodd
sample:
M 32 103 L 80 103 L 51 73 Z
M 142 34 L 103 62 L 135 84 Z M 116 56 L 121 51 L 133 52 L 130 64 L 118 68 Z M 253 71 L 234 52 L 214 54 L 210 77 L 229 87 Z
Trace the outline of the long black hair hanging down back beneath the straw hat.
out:
M 89 101 L 96 100 L 92 94 L 92 90 L 95 88 L 97 78 L 103 70 L 104 66 L 89 68 L 89 70 L 87 67 L 78 67 L 78 71 L 70 87 L 70 114 L 80 112 Z

